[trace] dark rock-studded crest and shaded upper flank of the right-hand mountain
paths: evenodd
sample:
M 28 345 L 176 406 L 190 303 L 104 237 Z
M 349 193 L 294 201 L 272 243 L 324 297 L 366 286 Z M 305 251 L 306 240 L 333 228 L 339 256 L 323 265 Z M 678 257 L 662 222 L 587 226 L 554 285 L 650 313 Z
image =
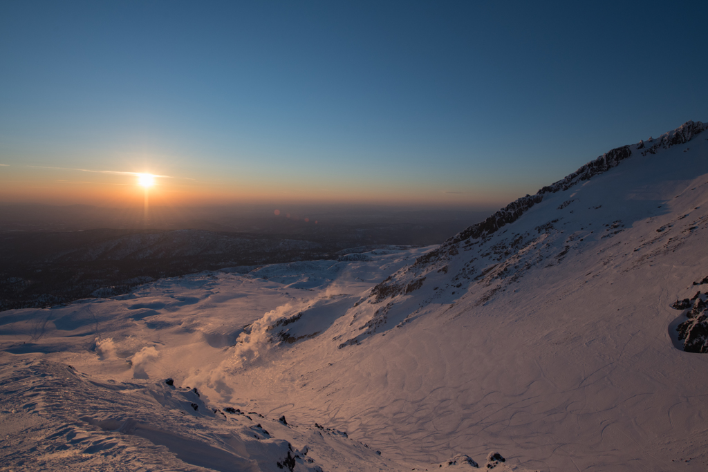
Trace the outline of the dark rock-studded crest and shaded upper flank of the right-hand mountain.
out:
M 642 157 L 637 158 L 640 162 L 635 162 L 639 166 L 636 171 L 641 171 L 641 159 L 646 159 L 644 156 L 654 155 L 657 154 L 657 150 L 668 150 L 672 146 L 690 142 L 702 136 L 701 133 L 706 128 L 707 126 L 702 122 L 689 121 L 663 134 L 651 147 L 646 148 Z M 481 223 L 469 226 L 442 243 L 440 247 L 421 255 L 412 265 L 402 267 L 373 287 L 367 297 L 360 299 L 357 306 L 348 311 L 348 316 L 351 318 L 350 326 L 354 328 L 346 330 L 345 333 L 337 333 L 334 340 L 337 341 L 338 347 L 358 344 L 382 329 L 384 325 L 390 323 L 397 325 L 411 321 L 430 303 L 456 303 L 463 294 L 467 296 L 469 287 L 472 285 L 478 286 L 479 290 L 473 291 L 474 300 L 469 303 L 472 306 L 485 304 L 498 291 L 506 290 L 510 284 L 518 282 L 532 267 L 539 265 L 550 267 L 561 263 L 569 252 L 582 251 L 583 247 L 587 246 L 588 239 L 599 242 L 624 231 L 627 229 L 627 224 L 631 225 L 631 223 L 623 221 L 626 217 L 620 214 L 621 212 L 607 209 L 606 200 L 609 199 L 603 199 L 601 195 L 592 196 L 596 201 L 589 201 L 590 206 L 584 209 L 583 217 L 576 217 L 574 209 L 581 205 L 578 202 L 580 200 L 577 196 L 578 192 L 573 192 L 568 200 L 563 201 L 559 200 L 558 195 L 567 195 L 567 192 L 576 185 L 588 183 L 590 178 L 599 177 L 600 174 L 616 168 L 637 149 L 644 149 L 641 142 L 608 151 L 598 159 L 581 166 L 566 178 L 542 188 L 536 195 L 521 197 Z M 622 192 L 622 189 L 614 189 L 614 192 L 617 191 Z M 556 202 L 556 200 L 558 200 L 557 204 L 548 203 L 555 211 L 544 221 L 535 221 L 532 227 L 526 227 L 524 231 L 513 231 L 510 236 L 504 236 L 507 231 L 500 232 L 504 226 L 517 221 L 535 205 L 544 201 Z M 574 205 L 571 206 L 573 203 Z M 603 204 L 605 209 L 602 208 Z M 646 216 L 651 215 L 652 210 L 647 209 L 647 213 Z M 612 214 L 615 216 L 610 216 Z M 598 216 L 601 219 L 593 221 Z M 595 230 L 590 229 L 593 222 L 596 225 L 595 229 L 602 229 L 603 234 L 598 236 Z M 696 221 L 691 221 L 688 226 L 695 223 Z M 662 227 L 673 227 L 674 224 L 676 221 L 671 221 Z M 586 229 L 585 226 L 588 228 Z M 566 231 L 571 229 L 572 234 L 566 236 Z M 687 237 L 687 234 L 675 236 L 675 231 L 670 234 L 663 229 L 656 231 L 658 236 L 653 238 L 651 243 L 645 243 L 641 247 L 643 251 L 649 248 L 650 244 L 658 247 L 662 242 L 666 247 L 675 246 Z M 468 252 L 472 255 L 471 258 L 464 254 Z M 420 290 L 424 285 L 428 287 L 427 291 L 423 291 L 425 295 L 416 296 L 421 293 Z M 387 300 L 390 300 L 389 303 L 379 306 Z M 299 316 L 302 314 L 299 313 Z M 314 335 L 314 333 L 297 331 L 298 334 L 293 338 L 292 334 L 288 334 L 296 331 L 296 327 L 293 326 L 287 331 L 280 331 L 280 336 L 293 340 Z M 704 334 L 699 335 L 699 332 L 700 329 L 695 329 L 694 335 L 702 339 Z M 692 349 L 698 349 L 700 352 L 708 350 L 708 343 L 702 344 L 703 347 L 695 347 L 696 341 L 691 337 L 686 343 L 693 345 Z

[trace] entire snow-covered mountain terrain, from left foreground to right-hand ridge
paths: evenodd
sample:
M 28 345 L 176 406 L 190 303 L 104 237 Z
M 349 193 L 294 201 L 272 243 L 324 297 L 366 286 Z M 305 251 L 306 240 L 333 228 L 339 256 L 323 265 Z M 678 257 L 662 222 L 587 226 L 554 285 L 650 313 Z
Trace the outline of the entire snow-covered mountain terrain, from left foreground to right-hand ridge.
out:
M 439 247 L 2 313 L 3 461 L 707 470 L 704 129 L 610 151 Z

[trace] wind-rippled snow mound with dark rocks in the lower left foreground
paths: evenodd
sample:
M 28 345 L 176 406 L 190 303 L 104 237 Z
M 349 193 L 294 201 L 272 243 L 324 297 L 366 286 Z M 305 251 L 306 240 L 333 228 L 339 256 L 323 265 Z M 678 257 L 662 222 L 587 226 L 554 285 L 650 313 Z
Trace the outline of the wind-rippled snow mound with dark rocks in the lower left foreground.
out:
M 346 435 L 229 406 L 210 408 L 196 388 L 178 387 L 173 379 L 101 382 L 42 360 L 0 364 L 0 379 L 4 432 L 11 425 L 23 433 L 4 437 L 0 457 L 5 466 L 321 472 L 322 466 L 332 470 L 337 456 L 343 456 L 345 467 L 351 466 L 350 457 L 372 466 L 386 463 Z M 32 465 L 26 461 L 30 454 Z

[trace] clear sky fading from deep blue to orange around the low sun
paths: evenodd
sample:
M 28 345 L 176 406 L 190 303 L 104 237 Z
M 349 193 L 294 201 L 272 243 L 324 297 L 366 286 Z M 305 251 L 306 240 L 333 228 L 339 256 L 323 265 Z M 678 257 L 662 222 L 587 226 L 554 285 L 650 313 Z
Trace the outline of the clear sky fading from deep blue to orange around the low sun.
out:
M 705 1 L 4 1 L 0 203 L 501 207 L 708 120 L 705 18 Z

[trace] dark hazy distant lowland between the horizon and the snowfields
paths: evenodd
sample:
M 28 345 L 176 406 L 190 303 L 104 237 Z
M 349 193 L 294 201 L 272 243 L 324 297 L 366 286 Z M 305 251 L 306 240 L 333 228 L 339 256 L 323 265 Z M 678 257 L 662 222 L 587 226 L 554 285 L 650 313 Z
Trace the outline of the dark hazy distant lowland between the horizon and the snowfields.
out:
M 338 216 L 319 224 L 302 219 L 234 216 L 207 212 L 207 229 L 90 229 L 130 224 L 112 219 L 130 213 L 94 207 L 57 207 L 72 231 L 42 226 L 48 207 L 0 207 L 0 310 L 52 306 L 88 297 L 129 292 L 161 277 L 296 260 L 338 258 L 346 248 L 428 246 L 462 229 L 475 212 L 383 212 Z M 159 213 L 159 209 L 156 213 Z M 325 215 L 326 217 L 326 215 Z M 50 219 L 51 221 L 51 219 Z M 136 220 L 139 221 L 139 220 Z M 167 226 L 193 221 L 169 220 Z M 138 224 L 135 223 L 134 224 Z M 227 226 L 228 224 L 228 226 Z M 199 225 L 197 225 L 199 226 Z M 78 228 L 78 229 L 77 229 Z M 84 229 L 88 228 L 88 229 Z M 250 231 L 244 231 L 249 228 Z M 238 230 L 238 231 L 237 231 Z

